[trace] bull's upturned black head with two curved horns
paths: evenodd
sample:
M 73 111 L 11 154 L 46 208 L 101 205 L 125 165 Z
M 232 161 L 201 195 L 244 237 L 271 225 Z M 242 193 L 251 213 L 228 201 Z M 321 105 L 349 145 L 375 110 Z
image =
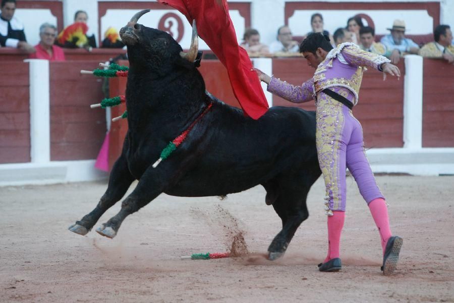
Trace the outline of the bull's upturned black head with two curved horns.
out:
M 139 18 L 150 10 L 135 14 L 125 27 L 120 29 L 120 37 L 128 46 L 129 59 L 145 65 L 172 64 L 176 58 L 193 63 L 197 57 L 198 36 L 195 20 L 192 25 L 191 47 L 184 53 L 180 44 L 166 32 L 138 24 Z

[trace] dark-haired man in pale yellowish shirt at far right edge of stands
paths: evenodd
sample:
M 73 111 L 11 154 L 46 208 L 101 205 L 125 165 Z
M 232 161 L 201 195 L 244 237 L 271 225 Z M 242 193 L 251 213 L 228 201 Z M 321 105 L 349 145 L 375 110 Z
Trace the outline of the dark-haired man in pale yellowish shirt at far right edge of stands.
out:
M 425 44 L 419 50 L 419 55 L 429 58 L 443 58 L 454 63 L 454 46 L 451 45 L 452 31 L 449 25 L 438 25 L 433 31 L 434 42 Z

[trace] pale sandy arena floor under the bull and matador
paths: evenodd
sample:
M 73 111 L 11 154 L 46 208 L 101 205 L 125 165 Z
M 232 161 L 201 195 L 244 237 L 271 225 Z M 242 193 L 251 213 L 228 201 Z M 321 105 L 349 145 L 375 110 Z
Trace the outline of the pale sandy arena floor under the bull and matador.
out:
M 95 207 L 105 182 L 0 187 L 0 301 L 454 302 L 454 176 L 377 181 L 391 229 L 404 238 L 390 277 L 380 272 L 379 234 L 353 178 L 339 273 L 316 266 L 327 244 L 321 179 L 309 194 L 309 219 L 274 262 L 264 254 L 281 223 L 261 186 L 225 200 L 162 194 L 128 217 L 115 239 L 67 230 Z M 239 233 L 245 257 L 180 260 L 226 251 Z

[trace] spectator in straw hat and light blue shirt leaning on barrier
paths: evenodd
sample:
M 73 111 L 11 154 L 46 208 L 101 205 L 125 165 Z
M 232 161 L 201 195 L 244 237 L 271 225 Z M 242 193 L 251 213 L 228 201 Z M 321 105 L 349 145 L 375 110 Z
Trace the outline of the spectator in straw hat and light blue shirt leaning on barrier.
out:
M 392 28 L 388 28 L 391 34 L 381 38 L 388 52 L 390 52 L 389 59 L 392 64 L 398 64 L 401 55 L 404 53 L 418 54 L 419 46 L 412 39 L 405 37 L 405 22 L 404 20 L 394 20 Z

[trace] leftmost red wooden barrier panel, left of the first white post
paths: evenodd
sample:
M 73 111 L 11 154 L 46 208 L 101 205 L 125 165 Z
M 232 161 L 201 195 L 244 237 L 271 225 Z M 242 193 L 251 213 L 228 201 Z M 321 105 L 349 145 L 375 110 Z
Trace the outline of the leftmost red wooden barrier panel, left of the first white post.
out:
M 30 162 L 30 81 L 24 62 L 3 62 L 0 81 L 0 163 Z

